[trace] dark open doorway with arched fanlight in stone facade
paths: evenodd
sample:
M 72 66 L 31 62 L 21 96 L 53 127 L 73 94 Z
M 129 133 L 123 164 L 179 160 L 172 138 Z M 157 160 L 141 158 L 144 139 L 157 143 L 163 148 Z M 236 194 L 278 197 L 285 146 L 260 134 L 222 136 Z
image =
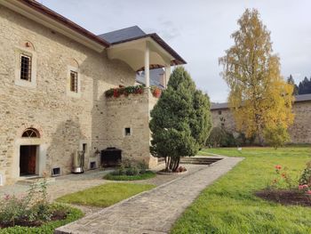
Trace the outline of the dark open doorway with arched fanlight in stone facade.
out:
M 22 138 L 40 138 L 40 133 L 35 128 L 26 129 Z M 34 175 L 37 172 L 39 145 L 20 145 L 20 176 Z

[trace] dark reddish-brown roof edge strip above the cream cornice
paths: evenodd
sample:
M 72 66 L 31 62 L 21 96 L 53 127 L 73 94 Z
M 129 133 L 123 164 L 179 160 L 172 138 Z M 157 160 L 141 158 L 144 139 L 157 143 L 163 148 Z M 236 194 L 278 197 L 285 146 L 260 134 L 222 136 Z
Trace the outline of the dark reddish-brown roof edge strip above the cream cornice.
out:
M 56 20 L 62 23 L 68 28 L 71 28 L 75 30 L 76 32 L 82 34 L 83 36 L 86 36 L 89 39 L 92 39 L 94 42 L 98 44 L 104 45 L 105 47 L 109 46 L 109 43 L 105 39 L 92 34 L 92 32 L 86 30 L 85 28 L 82 28 L 81 26 L 77 25 L 75 22 L 68 20 L 66 17 L 60 15 L 59 13 L 52 11 L 50 8 L 44 6 L 43 4 L 38 3 L 36 0 L 18 0 L 18 1 L 22 4 L 28 5 L 28 7 L 36 10 L 37 12 L 41 12 L 44 15 L 52 18 L 52 20 Z

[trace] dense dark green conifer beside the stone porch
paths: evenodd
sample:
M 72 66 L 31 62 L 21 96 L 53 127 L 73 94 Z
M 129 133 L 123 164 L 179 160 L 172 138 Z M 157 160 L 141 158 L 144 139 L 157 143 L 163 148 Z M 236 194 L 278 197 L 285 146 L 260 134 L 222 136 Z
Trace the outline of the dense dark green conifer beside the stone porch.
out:
M 178 169 L 180 157 L 195 156 L 211 130 L 209 98 L 182 67 L 172 72 L 151 117 L 151 153 L 165 158 L 169 172 Z

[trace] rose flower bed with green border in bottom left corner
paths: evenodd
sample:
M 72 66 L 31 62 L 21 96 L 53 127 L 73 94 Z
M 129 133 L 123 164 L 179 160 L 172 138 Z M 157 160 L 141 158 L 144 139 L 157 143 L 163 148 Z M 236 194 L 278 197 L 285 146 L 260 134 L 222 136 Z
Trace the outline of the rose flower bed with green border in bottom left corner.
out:
M 76 208 L 49 203 L 46 188 L 44 179 L 34 182 L 25 196 L 0 199 L 0 233 L 53 233 L 84 215 Z

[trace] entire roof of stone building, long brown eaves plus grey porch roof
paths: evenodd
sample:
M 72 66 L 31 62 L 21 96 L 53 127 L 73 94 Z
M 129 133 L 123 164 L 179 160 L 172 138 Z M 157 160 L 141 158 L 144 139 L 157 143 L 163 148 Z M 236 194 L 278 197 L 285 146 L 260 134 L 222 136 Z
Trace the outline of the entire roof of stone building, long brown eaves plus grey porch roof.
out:
M 0 0 L 1 4 L 9 7 L 10 9 L 17 9 L 22 12 L 23 15 L 27 16 L 29 19 L 34 20 L 48 25 L 50 28 L 60 30 L 60 33 L 73 38 L 80 43 L 91 42 L 88 44 L 93 49 L 101 52 L 103 48 L 110 47 L 114 44 L 122 44 L 133 40 L 139 40 L 141 38 L 150 37 L 157 44 L 159 44 L 164 51 L 171 54 L 172 60 L 171 65 L 186 64 L 177 52 L 175 52 L 170 45 L 166 44 L 163 39 L 156 33 L 146 34 L 138 26 L 133 26 L 130 28 L 123 28 L 100 36 L 92 34 L 92 32 L 87 29 L 77 25 L 75 22 L 68 20 L 66 17 L 60 15 L 57 12 L 52 11 L 50 8 L 38 3 L 36 0 L 14 0 L 6 1 Z M 41 19 L 42 18 L 42 19 Z M 49 21 L 49 22 L 47 22 Z M 52 23 L 51 23 L 52 22 Z M 68 31 L 64 31 L 63 29 Z M 79 38 L 78 38 L 79 37 Z M 81 37 L 81 38 L 80 38 Z

